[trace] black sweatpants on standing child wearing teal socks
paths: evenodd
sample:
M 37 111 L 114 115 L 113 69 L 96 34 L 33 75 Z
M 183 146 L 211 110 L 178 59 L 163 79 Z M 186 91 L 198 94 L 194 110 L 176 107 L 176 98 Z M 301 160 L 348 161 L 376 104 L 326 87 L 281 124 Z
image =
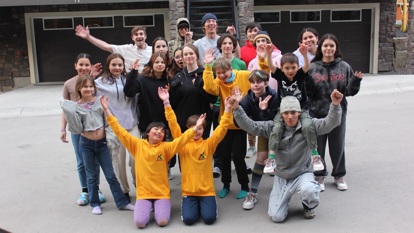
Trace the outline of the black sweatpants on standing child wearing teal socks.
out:
M 218 148 L 221 155 L 221 182 L 224 186 L 231 183 L 231 157 L 233 156 L 234 167 L 238 183 L 242 189 L 248 189 L 249 177 L 247 176 L 246 162 L 246 140 L 247 133 L 241 129 L 228 129 L 226 136 L 221 140 Z

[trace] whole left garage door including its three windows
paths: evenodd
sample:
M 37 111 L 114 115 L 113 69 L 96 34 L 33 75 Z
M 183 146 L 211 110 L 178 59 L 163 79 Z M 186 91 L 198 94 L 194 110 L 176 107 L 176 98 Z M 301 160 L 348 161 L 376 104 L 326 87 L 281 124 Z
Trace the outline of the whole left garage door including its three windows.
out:
M 75 76 L 75 59 L 80 53 L 91 54 L 93 63 L 105 64 L 110 53 L 77 37 L 77 25 L 88 25 L 91 35 L 109 44 L 125 45 L 132 43 L 131 29 L 137 21 L 148 25 L 147 44 L 165 35 L 164 14 L 33 19 L 39 82 L 66 81 Z

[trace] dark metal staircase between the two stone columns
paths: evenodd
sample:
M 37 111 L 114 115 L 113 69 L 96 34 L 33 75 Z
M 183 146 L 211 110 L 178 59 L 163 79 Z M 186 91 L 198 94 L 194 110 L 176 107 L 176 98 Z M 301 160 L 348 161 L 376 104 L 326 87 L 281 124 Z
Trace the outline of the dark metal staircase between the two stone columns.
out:
M 205 36 L 201 27 L 201 19 L 207 13 L 217 16 L 218 35 L 226 33 L 227 26 L 233 25 L 238 36 L 236 0 L 187 0 L 187 19 L 191 24 L 193 40 Z

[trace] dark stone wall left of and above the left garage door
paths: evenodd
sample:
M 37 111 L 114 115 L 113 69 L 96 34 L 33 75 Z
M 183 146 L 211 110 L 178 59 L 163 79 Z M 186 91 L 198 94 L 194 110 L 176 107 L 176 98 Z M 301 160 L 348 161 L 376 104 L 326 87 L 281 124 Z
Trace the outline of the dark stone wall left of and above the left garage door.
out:
M 0 91 L 10 91 L 16 83 L 14 78 L 30 76 L 24 13 L 158 8 L 168 8 L 168 2 L 117 2 L 10 7 L 11 21 L 0 24 Z

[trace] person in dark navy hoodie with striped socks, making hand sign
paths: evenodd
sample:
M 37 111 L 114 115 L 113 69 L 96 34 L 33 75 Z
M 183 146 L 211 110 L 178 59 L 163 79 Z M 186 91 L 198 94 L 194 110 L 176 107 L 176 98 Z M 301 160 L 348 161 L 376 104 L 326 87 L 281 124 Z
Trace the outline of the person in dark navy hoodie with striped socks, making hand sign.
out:
M 269 87 L 269 73 L 264 70 L 255 70 L 249 75 L 250 90 L 246 96 L 240 93 L 236 88 L 234 95 L 240 103 L 241 108 L 253 121 L 273 120 L 277 113 L 280 100 L 275 89 Z M 234 125 L 238 127 L 236 119 L 233 119 Z M 255 165 L 253 166 L 252 182 L 250 184 L 250 192 L 247 193 L 243 202 L 243 209 L 253 209 L 254 203 L 257 201 L 257 192 L 262 179 L 263 169 L 265 168 L 265 160 L 269 152 L 269 139 L 266 137 L 258 137 L 258 155 Z

